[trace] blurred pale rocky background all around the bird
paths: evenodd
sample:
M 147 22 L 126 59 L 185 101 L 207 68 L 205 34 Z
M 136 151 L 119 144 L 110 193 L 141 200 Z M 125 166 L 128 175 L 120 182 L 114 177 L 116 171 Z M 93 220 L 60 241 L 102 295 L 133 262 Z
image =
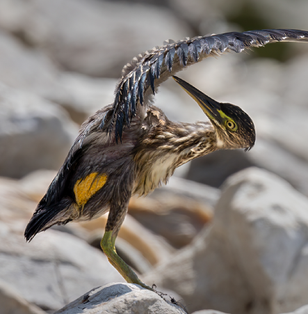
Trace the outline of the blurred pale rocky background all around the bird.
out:
M 53 313 L 123 282 L 99 251 L 106 217 L 52 228 L 30 244 L 23 238 L 79 125 L 113 102 L 123 65 L 168 38 L 308 30 L 307 10 L 305 0 L 0 0 L 1 313 Z M 257 129 L 250 152 L 195 159 L 129 205 L 117 251 L 189 313 L 276 314 L 308 304 L 307 68 L 307 44 L 277 43 L 179 74 L 243 108 Z M 173 120 L 205 119 L 171 80 L 156 105 Z M 121 289 L 116 295 L 131 288 Z

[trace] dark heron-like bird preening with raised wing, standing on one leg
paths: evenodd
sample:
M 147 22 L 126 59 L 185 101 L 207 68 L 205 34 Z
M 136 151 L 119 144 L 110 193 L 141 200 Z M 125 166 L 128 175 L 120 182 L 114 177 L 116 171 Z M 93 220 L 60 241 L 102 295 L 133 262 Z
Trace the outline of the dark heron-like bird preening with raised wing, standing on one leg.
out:
M 209 56 L 243 52 L 270 42 L 308 41 L 308 32 L 264 29 L 167 40 L 124 66 L 115 100 L 90 116 L 26 226 L 26 241 L 55 224 L 86 221 L 108 212 L 101 247 L 128 283 L 143 283 L 115 249 L 115 240 L 133 195 L 145 196 L 166 184 L 175 168 L 216 150 L 250 150 L 252 119 L 240 107 L 221 103 L 175 74 Z M 178 123 L 154 106 L 166 79 L 197 102 L 206 122 Z

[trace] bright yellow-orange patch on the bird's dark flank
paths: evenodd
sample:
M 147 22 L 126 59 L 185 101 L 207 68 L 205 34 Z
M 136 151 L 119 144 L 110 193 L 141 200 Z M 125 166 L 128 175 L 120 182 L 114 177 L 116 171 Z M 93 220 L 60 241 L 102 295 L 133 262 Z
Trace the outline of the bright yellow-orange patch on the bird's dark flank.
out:
M 86 205 L 90 197 L 93 196 L 99 189 L 104 187 L 107 178 L 106 174 L 94 172 L 90 173 L 90 175 L 86 176 L 84 179 L 77 180 L 74 185 L 76 203 L 79 206 Z

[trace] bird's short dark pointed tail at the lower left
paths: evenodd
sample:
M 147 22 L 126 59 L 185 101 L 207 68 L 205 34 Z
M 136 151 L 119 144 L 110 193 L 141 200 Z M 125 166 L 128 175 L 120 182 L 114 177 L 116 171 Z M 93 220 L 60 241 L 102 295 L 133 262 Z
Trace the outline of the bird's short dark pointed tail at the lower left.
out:
M 37 233 L 55 224 L 65 224 L 71 221 L 67 215 L 70 212 L 67 209 L 71 206 L 72 201 L 67 198 L 52 204 L 47 204 L 46 199 L 42 198 L 24 231 L 26 241 L 31 241 Z

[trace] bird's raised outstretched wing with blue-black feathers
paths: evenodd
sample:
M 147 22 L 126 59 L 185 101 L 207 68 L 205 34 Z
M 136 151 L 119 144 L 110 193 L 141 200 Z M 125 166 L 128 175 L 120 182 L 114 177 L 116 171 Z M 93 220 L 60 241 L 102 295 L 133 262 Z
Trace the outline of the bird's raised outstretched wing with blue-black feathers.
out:
M 140 110 L 147 109 L 148 97 L 168 77 L 188 65 L 202 61 L 208 56 L 224 52 L 243 52 L 251 47 L 264 46 L 279 41 L 308 42 L 308 32 L 295 29 L 263 29 L 243 33 L 186 38 L 179 42 L 168 40 L 166 45 L 133 58 L 122 70 L 122 78 L 115 89 L 112 114 L 102 118 L 101 129 L 109 132 L 115 126 L 115 139 L 122 139 L 124 127 L 129 127 L 131 118 Z

